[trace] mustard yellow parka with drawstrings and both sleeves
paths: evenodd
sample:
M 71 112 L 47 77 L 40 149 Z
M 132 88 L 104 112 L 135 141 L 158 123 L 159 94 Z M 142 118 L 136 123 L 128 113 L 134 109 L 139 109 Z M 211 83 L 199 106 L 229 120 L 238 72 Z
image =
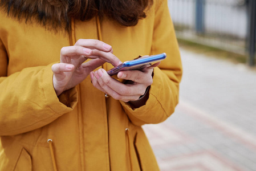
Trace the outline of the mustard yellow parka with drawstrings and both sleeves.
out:
M 103 19 L 100 27 L 122 62 L 167 54 L 142 107 L 107 99 L 90 77 L 56 96 L 51 66 L 62 47 L 99 38 L 95 18 L 56 33 L 0 9 L 0 170 L 159 170 L 141 125 L 161 123 L 178 103 L 181 59 L 167 1 L 155 1 L 136 26 Z

